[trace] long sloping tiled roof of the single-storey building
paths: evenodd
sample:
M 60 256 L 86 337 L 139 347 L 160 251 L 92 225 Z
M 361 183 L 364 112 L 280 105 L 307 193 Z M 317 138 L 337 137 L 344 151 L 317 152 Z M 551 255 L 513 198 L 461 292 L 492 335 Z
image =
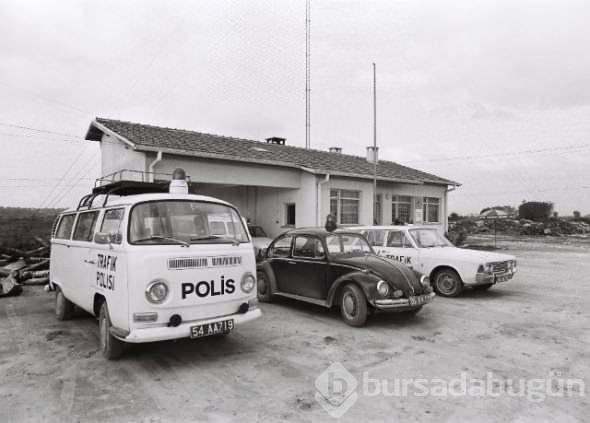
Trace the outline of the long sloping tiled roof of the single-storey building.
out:
M 315 173 L 362 178 L 372 178 L 374 171 L 373 164 L 365 157 L 104 118 L 96 118 L 92 122 L 86 139 L 100 141 L 105 130 L 132 143 L 139 151 L 162 150 L 179 155 L 296 167 Z M 385 160 L 379 161 L 377 178 L 418 184 L 459 185 Z

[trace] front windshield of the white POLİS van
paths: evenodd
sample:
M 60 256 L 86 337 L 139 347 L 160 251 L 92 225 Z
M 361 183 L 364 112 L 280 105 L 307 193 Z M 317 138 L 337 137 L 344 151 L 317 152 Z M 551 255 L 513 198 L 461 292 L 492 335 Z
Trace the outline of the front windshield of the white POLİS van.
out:
M 248 242 L 238 213 L 203 201 L 154 201 L 133 207 L 131 244 L 203 244 Z

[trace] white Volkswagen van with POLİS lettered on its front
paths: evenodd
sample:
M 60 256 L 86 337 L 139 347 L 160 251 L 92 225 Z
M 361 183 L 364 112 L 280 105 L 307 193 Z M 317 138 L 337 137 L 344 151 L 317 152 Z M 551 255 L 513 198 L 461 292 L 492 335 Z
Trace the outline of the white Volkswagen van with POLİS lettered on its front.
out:
M 231 228 L 223 235 L 218 222 Z M 99 183 L 52 230 L 50 284 L 59 320 L 74 306 L 99 321 L 100 350 L 125 343 L 225 335 L 261 316 L 245 220 L 222 200 L 168 185 Z

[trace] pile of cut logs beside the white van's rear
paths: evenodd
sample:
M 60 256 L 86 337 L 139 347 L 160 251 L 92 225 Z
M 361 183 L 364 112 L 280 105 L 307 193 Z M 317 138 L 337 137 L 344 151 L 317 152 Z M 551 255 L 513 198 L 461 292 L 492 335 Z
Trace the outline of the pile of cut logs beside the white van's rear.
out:
M 49 286 L 49 243 L 34 239 L 40 247 L 28 251 L 0 246 L 0 297 L 19 295 L 24 285 Z

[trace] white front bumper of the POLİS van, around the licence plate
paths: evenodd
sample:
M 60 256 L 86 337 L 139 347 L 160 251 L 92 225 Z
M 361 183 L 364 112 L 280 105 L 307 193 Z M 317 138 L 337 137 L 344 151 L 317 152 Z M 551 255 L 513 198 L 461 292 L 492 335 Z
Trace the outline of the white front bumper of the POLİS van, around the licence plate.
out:
M 229 314 L 226 316 L 217 316 L 211 319 L 193 320 L 190 322 L 183 322 L 176 327 L 169 326 L 156 326 L 149 328 L 133 329 L 128 334 L 124 334 L 121 331 L 112 328 L 111 334 L 119 338 L 122 341 L 130 343 L 142 343 L 142 342 L 156 342 L 166 341 L 170 339 L 180 339 L 190 337 L 191 327 L 195 325 L 203 325 L 207 323 L 218 322 L 221 320 L 233 319 L 234 325 L 240 326 L 244 323 L 248 323 L 262 316 L 262 311 L 259 308 L 251 309 L 246 313 Z M 235 330 L 235 329 L 234 329 Z

